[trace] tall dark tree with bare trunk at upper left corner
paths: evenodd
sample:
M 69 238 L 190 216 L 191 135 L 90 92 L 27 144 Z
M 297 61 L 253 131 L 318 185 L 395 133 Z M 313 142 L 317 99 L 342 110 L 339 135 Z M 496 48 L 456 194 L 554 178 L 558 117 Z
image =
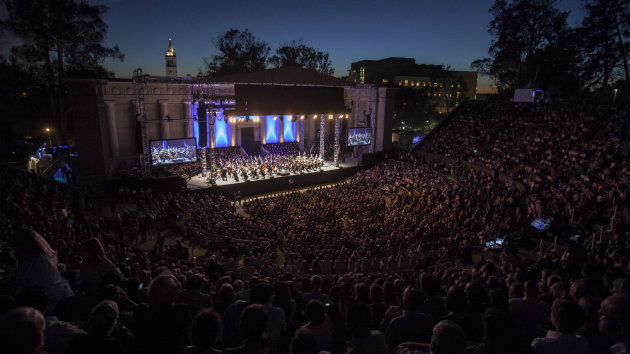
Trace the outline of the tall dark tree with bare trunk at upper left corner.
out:
M 46 83 L 50 110 L 61 143 L 69 138 L 64 110 L 64 85 L 69 64 L 83 70 L 102 70 L 105 57 L 123 60 L 117 46 L 103 46 L 107 25 L 101 16 L 106 6 L 85 0 L 1 0 L 7 9 L 2 28 L 22 40 L 12 49 L 14 57 Z

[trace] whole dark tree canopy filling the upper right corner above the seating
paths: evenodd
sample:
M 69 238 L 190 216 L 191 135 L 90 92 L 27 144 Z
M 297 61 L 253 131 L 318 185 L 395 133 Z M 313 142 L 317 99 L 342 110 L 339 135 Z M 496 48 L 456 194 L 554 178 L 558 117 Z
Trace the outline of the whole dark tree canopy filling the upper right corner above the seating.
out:
M 571 28 L 557 0 L 496 0 L 489 9 L 490 57 L 471 68 L 506 95 L 526 85 L 573 97 L 606 87 L 628 71 L 628 4 L 590 0 L 582 26 Z

